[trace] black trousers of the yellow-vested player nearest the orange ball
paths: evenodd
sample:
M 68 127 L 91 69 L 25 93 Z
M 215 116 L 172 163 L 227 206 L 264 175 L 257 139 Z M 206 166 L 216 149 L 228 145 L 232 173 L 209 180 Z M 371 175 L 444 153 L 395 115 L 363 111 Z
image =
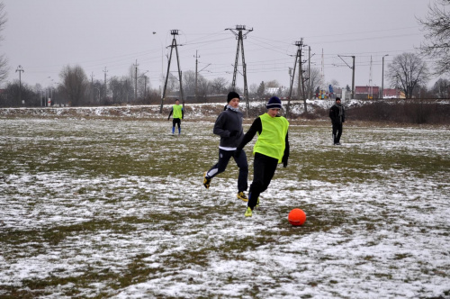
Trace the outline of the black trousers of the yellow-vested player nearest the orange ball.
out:
M 266 191 L 267 187 L 275 175 L 278 159 L 267 157 L 266 155 L 256 153 L 253 163 L 253 182 L 250 185 L 248 195 L 248 204 L 252 210 L 257 205 L 257 198 Z

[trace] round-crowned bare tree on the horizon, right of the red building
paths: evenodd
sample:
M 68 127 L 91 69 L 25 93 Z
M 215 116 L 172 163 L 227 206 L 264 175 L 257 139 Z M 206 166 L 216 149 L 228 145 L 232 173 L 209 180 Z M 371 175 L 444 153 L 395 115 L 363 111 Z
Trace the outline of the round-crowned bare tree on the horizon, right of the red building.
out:
M 429 71 L 427 63 L 414 53 L 402 53 L 392 59 L 388 66 L 388 77 L 391 85 L 401 88 L 406 98 L 413 95 L 414 88 L 425 86 Z

